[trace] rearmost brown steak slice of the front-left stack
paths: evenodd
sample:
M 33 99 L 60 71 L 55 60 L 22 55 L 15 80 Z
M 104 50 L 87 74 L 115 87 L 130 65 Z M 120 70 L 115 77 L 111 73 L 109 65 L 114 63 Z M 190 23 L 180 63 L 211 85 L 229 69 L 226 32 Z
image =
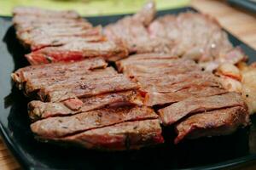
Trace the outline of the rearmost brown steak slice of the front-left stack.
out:
M 59 77 L 67 72 L 105 68 L 107 65 L 108 64 L 104 61 L 104 59 L 97 57 L 93 59 L 84 59 L 83 61 L 79 62 L 30 65 L 20 68 L 11 76 L 13 80 L 20 85 L 20 88 L 22 88 L 24 82 L 27 80 L 32 80 L 33 78 Z

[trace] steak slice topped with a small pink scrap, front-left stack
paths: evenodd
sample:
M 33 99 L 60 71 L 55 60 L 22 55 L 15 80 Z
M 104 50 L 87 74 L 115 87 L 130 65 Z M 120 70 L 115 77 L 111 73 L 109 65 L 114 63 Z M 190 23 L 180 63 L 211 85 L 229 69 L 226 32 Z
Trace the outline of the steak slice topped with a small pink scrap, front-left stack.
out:
M 32 121 L 52 116 L 68 116 L 84 111 L 92 111 L 103 107 L 122 105 L 143 105 L 136 91 L 115 94 L 101 94 L 90 98 L 67 99 L 58 103 L 44 103 L 34 100 L 28 104 L 28 114 Z

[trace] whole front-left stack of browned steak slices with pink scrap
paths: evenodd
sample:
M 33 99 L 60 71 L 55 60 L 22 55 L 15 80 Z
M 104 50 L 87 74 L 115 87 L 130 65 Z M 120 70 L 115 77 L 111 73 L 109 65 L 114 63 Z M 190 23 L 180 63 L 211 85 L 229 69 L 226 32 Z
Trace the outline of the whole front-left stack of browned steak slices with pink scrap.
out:
M 90 149 L 128 150 L 164 142 L 159 116 L 143 105 L 136 82 L 102 58 L 32 65 L 12 75 L 27 96 L 38 139 Z

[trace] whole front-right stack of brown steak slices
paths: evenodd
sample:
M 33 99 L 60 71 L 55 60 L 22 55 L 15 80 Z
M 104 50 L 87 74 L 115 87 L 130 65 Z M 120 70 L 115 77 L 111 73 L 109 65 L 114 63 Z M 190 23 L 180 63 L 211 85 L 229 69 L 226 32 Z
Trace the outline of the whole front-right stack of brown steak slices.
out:
M 183 138 L 224 135 L 249 122 L 241 94 L 226 91 L 211 72 L 191 59 L 135 54 L 117 62 L 119 71 L 141 85 L 144 105 L 157 106 L 162 123 Z

